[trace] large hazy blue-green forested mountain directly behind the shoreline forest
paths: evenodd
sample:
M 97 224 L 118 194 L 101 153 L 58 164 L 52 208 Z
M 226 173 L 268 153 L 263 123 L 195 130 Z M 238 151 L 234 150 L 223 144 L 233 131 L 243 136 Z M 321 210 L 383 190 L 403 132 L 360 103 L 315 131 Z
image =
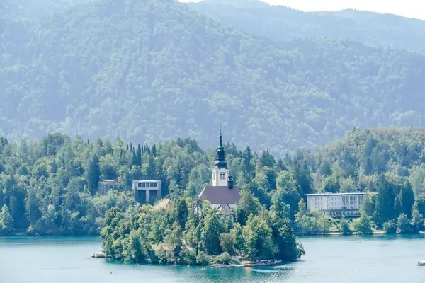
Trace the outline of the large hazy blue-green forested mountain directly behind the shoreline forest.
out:
M 327 38 L 277 44 L 171 0 L 55 11 L 30 24 L 30 13 L 2 19 L 0 134 L 10 141 L 60 131 L 212 146 L 221 124 L 237 146 L 283 156 L 353 127 L 424 120 L 421 53 Z

